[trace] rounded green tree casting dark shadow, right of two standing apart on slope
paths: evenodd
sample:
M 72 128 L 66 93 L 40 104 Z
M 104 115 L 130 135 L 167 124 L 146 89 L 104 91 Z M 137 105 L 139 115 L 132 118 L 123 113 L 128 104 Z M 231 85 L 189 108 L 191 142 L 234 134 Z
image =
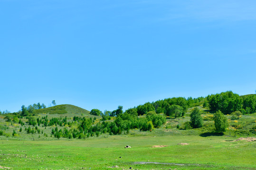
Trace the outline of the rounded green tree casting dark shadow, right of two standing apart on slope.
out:
M 226 128 L 228 127 L 228 120 L 227 118 L 224 116 L 224 114 L 221 111 L 217 111 L 214 114 L 214 126 L 216 128 L 217 132 L 225 132 Z

